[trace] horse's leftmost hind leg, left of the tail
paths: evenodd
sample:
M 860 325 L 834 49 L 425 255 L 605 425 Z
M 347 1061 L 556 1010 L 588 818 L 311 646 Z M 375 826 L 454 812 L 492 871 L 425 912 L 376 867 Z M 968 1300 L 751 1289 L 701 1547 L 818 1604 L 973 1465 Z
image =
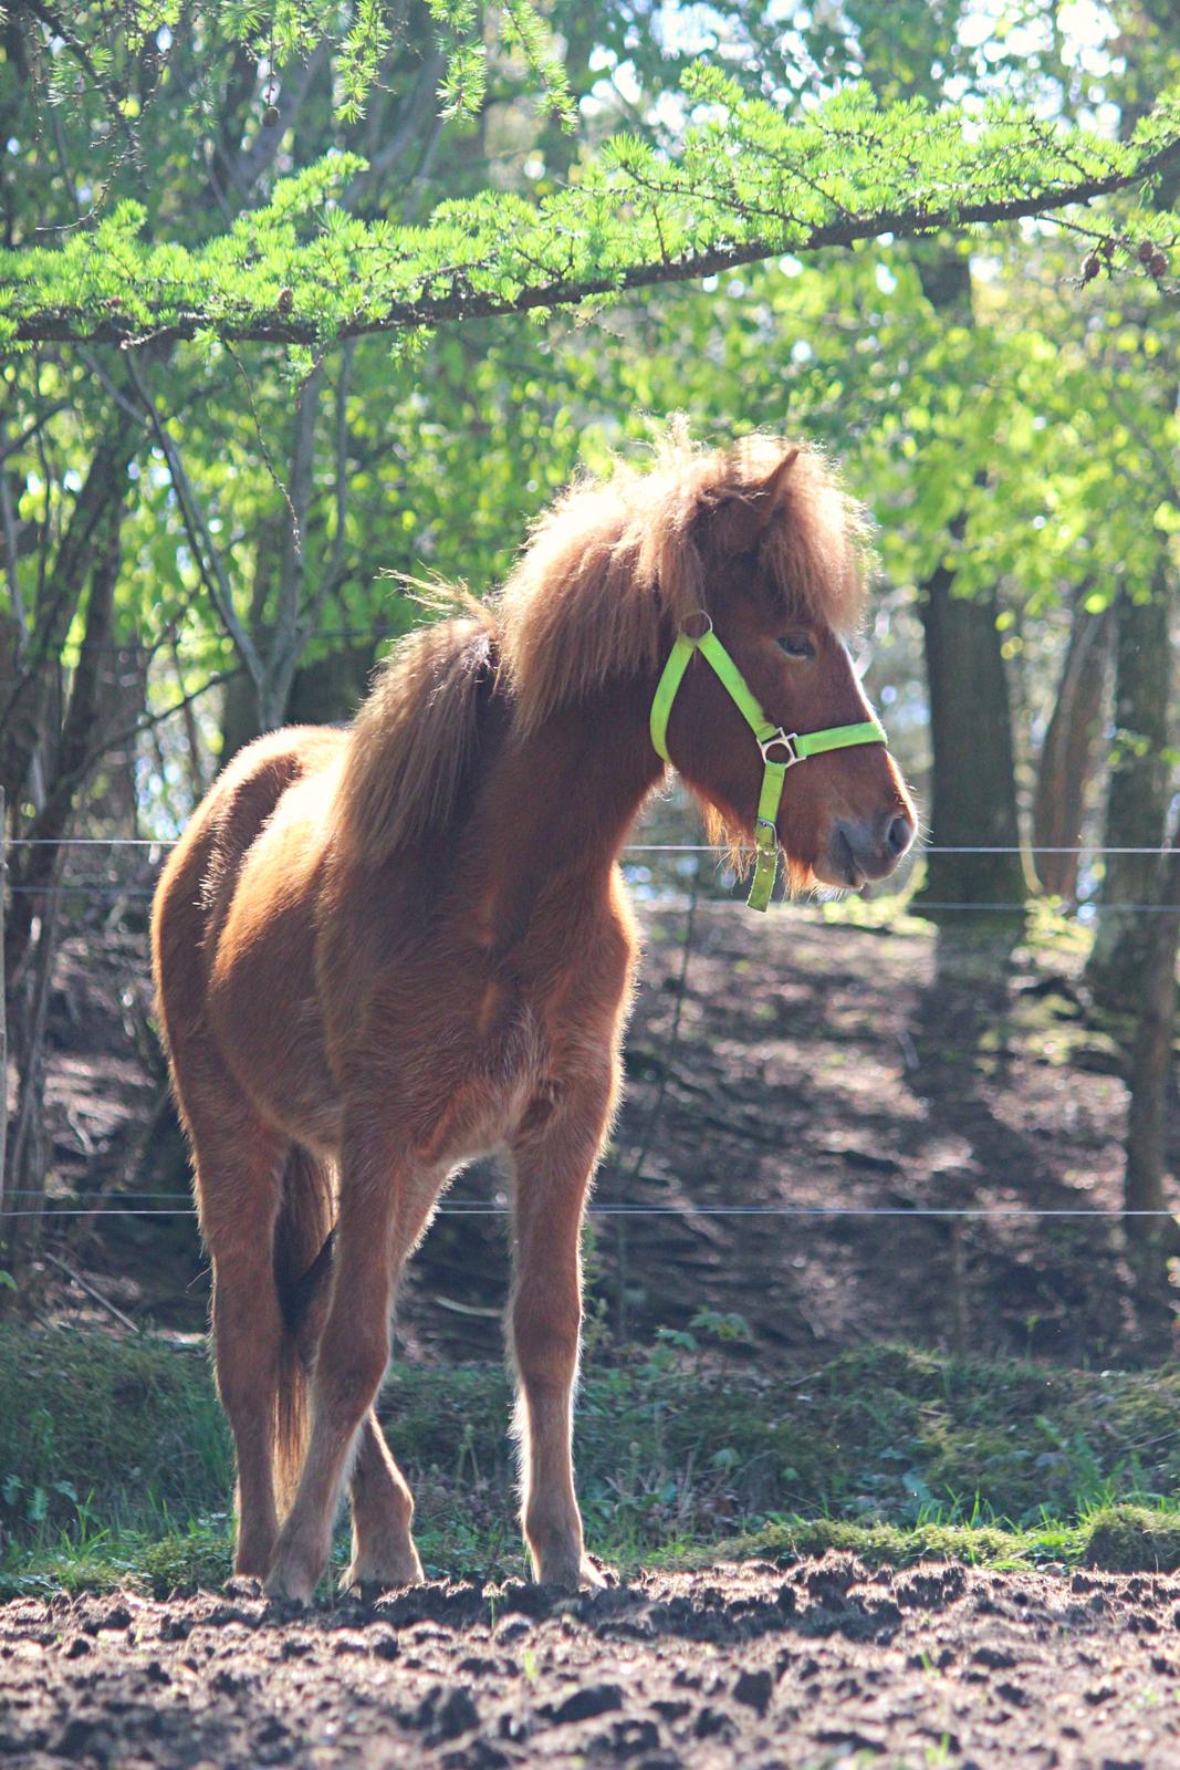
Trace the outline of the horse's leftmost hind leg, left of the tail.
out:
M 285 1138 L 223 1094 L 218 1124 L 193 1126 L 202 1234 L 212 1260 L 218 1391 L 237 1451 L 235 1574 L 264 1579 L 278 1536 L 274 1437 L 283 1317 L 274 1283 L 274 1225 Z

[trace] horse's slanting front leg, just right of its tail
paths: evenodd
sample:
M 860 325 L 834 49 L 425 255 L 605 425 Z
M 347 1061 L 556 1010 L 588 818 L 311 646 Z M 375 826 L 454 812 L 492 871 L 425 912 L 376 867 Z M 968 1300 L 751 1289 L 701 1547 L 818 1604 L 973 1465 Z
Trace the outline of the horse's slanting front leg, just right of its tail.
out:
M 433 1168 L 387 1165 L 361 1152 L 345 1159 L 333 1294 L 311 1384 L 311 1435 L 299 1492 L 265 1582 L 272 1598 L 310 1604 L 327 1566 L 336 1504 L 357 1450 L 357 1428 L 389 1361 L 389 1313 L 396 1283 L 430 1218 L 441 1181 Z M 410 1577 L 418 1568 L 412 1543 L 403 1559 L 405 1568 L 398 1572 Z

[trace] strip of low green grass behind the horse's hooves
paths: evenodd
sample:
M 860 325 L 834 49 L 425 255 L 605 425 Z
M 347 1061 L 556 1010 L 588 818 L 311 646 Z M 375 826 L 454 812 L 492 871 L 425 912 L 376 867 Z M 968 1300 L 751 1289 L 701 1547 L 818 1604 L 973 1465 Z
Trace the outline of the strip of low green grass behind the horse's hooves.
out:
M 395 1366 L 382 1411 L 428 1572 L 524 1572 L 502 1370 Z M 200 1349 L 4 1328 L 0 1420 L 0 1595 L 226 1577 L 232 1457 Z M 872 1347 L 766 1374 L 665 1335 L 587 1361 L 579 1485 L 591 1547 L 623 1568 L 824 1547 L 1180 1568 L 1176 1420 L 1173 1366 Z

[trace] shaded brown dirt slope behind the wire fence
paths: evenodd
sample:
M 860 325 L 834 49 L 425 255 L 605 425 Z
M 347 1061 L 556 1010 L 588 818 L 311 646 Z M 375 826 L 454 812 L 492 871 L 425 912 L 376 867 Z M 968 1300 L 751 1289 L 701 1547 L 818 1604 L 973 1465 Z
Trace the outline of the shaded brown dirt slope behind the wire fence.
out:
M 607 1328 L 646 1338 L 704 1303 L 739 1312 L 762 1356 L 883 1336 L 1070 1361 L 1134 1351 L 1116 1225 L 915 1214 L 1118 1207 L 1125 1089 L 1077 998 L 1076 956 L 702 903 L 679 1000 L 685 912 L 651 908 L 644 924 L 596 1204 L 656 1214 L 594 1221 L 591 1304 Z M 140 1156 L 157 1099 L 134 1039 L 145 1000 L 136 936 L 71 943 L 53 1018 L 58 1193 L 184 1184 L 166 1120 Z M 502 1202 L 502 1186 L 476 1168 L 451 1202 Z M 833 1207 L 893 1214 L 764 1214 Z M 203 1324 L 191 1221 L 96 1218 L 64 1251 L 131 1313 Z M 101 1320 L 53 1276 L 50 1306 Z M 403 1294 L 403 1349 L 497 1356 L 506 1278 L 502 1218 L 439 1216 Z

